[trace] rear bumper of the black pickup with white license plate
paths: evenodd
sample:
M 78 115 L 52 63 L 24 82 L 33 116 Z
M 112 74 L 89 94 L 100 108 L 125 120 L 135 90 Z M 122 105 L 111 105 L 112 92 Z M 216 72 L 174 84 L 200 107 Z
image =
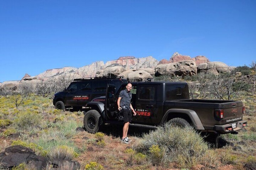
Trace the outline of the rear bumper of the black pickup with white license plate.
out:
M 247 121 L 241 120 L 238 122 L 232 122 L 232 123 L 225 124 L 225 125 L 215 125 L 214 130 L 219 133 L 225 134 L 225 133 L 231 133 L 234 131 L 241 130 L 245 126 L 247 126 Z

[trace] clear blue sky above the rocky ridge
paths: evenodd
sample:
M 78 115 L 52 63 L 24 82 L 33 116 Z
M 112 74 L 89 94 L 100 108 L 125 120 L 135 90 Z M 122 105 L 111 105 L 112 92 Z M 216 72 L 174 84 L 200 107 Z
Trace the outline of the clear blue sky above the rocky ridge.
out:
M 0 0 L 0 82 L 120 56 L 256 60 L 255 0 Z

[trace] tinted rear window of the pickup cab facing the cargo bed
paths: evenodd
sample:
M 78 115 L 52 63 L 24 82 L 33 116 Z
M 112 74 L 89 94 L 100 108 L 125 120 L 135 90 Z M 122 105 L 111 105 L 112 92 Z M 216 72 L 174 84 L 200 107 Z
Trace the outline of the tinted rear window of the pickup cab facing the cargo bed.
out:
M 167 85 L 166 100 L 189 98 L 187 92 L 188 87 L 186 85 Z

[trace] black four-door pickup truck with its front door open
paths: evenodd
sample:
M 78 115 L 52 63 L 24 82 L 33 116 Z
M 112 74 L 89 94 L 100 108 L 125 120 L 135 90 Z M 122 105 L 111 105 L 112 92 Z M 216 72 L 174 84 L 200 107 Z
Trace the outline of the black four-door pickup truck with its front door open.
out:
M 106 96 L 93 99 L 86 104 L 84 127 L 95 133 L 104 123 L 122 123 L 117 111 L 119 92 L 108 85 Z M 242 101 L 190 99 L 185 82 L 133 82 L 132 105 L 136 116 L 131 126 L 155 128 L 165 122 L 180 126 L 192 126 L 196 130 L 215 134 L 236 133 L 244 128 L 245 107 Z

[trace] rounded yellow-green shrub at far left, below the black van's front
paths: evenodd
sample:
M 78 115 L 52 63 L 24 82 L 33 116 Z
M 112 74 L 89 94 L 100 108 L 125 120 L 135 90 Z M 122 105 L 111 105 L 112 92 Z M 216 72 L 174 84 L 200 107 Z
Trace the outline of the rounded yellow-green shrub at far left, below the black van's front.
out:
M 30 111 L 20 112 L 14 120 L 14 126 L 21 130 L 30 130 L 41 126 L 42 116 Z

